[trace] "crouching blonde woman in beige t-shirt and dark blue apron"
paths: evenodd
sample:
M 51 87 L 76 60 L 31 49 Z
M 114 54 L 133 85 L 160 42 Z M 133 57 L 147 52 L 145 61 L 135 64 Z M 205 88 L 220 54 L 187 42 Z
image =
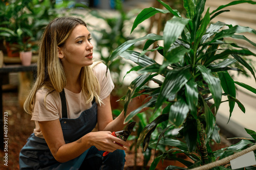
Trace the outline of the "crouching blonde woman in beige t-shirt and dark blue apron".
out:
M 20 169 L 123 169 L 130 143 L 111 132 L 124 128 L 124 113 L 113 120 L 114 84 L 106 66 L 93 63 L 90 40 L 86 23 L 72 17 L 54 19 L 42 35 L 37 79 L 24 104 L 35 129 L 20 151 Z M 145 99 L 134 98 L 127 113 Z

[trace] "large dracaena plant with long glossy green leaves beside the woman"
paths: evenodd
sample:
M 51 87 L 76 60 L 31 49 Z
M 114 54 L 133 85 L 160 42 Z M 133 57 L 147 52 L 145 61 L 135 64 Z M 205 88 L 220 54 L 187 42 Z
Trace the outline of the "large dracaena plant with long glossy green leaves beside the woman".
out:
M 156 13 L 172 13 L 173 17 L 166 21 L 162 35 L 147 34 L 144 37 L 126 41 L 109 58 L 109 64 L 117 56 L 135 62 L 137 66 L 133 67 L 132 70 L 140 74 L 127 91 L 124 99 L 124 111 L 134 96 L 150 94 L 151 97 L 149 102 L 127 115 L 125 122 L 129 122 L 144 107 L 152 107 L 154 111 L 163 108 L 162 114 L 140 133 L 137 147 L 142 143 L 143 149 L 146 150 L 148 144 L 152 142 L 152 132 L 158 124 L 162 124 L 162 133 L 159 134 L 159 138 L 154 144 L 169 145 L 175 149 L 170 149 L 157 157 L 151 169 L 154 169 L 160 158 L 165 158 L 168 153 L 183 152 L 194 161 L 182 161 L 191 168 L 214 162 L 217 157 L 221 159 L 236 152 L 235 150 L 246 148 L 248 142 L 255 142 L 253 136 L 255 132 L 248 130 L 247 132 L 252 134 L 253 138 L 248 141 L 242 140 L 238 145 L 234 145 L 232 149 L 229 149 L 228 154 L 225 153 L 225 149 L 212 152 L 209 142 L 220 143 L 216 114 L 221 103 L 229 103 L 229 118 L 236 103 L 245 112 L 242 103 L 236 98 L 235 85 L 256 93 L 256 89 L 243 82 L 234 81 L 230 76 L 230 71 L 243 71 L 230 66 L 238 62 L 247 68 L 256 80 L 253 68 L 242 58 L 244 56 L 256 56 L 256 54 L 246 47 L 226 41 L 226 38 L 244 40 L 256 46 L 254 42 L 241 35 L 245 32 L 256 34 L 256 31 L 249 27 L 232 26 L 221 21 L 212 23 L 211 21 L 212 18 L 228 12 L 228 10 L 223 10 L 225 7 L 242 3 L 253 5 L 256 2 L 234 1 L 210 12 L 209 9 L 205 9 L 206 0 L 184 0 L 186 17 L 183 17 L 179 11 L 172 9 L 160 0 L 157 1 L 166 9 L 152 7 L 143 9 L 136 17 L 131 32 L 142 21 Z M 147 41 L 145 41 L 141 52 L 129 50 L 136 42 L 143 40 Z M 150 49 L 149 47 L 156 41 L 163 45 Z M 221 48 L 220 46 L 223 44 L 231 47 Z M 154 51 L 163 57 L 162 63 L 157 63 L 145 55 Z M 162 79 L 157 79 L 156 76 L 158 75 Z M 159 87 L 148 87 L 149 81 L 154 81 Z M 139 91 L 142 92 L 139 93 Z M 223 95 L 227 96 L 226 101 L 222 101 Z M 209 105 L 210 100 L 213 102 L 212 105 Z M 183 140 L 164 137 L 164 132 L 174 128 L 181 129 L 179 137 L 183 136 Z M 226 167 L 219 166 L 214 169 L 220 168 Z M 179 169 L 179 167 L 170 165 L 167 169 Z

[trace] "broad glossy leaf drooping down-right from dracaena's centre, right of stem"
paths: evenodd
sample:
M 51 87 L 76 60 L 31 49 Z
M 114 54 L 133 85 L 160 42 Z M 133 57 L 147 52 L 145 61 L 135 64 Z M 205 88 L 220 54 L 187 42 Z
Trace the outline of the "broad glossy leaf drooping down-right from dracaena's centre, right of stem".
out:
M 220 79 L 214 77 L 211 71 L 203 65 L 198 65 L 198 69 L 201 71 L 204 81 L 208 84 L 209 90 L 215 101 L 216 113 L 221 103 L 222 89 Z

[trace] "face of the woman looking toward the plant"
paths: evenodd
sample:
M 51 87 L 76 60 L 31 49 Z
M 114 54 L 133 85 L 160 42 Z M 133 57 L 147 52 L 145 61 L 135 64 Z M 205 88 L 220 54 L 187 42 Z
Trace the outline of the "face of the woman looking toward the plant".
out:
M 93 63 L 93 45 L 91 34 L 83 25 L 78 25 L 72 31 L 63 47 L 58 47 L 59 58 L 63 66 L 88 66 Z

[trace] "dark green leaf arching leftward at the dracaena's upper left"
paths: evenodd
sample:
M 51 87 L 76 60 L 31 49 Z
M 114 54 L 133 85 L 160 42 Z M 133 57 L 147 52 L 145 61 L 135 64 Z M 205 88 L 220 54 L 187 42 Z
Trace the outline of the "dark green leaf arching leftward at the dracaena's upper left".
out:
M 144 20 L 154 16 L 156 13 L 169 13 L 168 10 L 163 10 L 163 9 L 157 9 L 157 8 L 153 8 L 153 7 L 150 7 L 150 8 L 145 8 L 143 9 L 139 14 L 138 16 L 136 17 L 136 19 L 134 20 L 133 22 L 133 28 L 131 30 L 131 33 L 133 32 L 133 30 L 141 23 L 143 22 Z

